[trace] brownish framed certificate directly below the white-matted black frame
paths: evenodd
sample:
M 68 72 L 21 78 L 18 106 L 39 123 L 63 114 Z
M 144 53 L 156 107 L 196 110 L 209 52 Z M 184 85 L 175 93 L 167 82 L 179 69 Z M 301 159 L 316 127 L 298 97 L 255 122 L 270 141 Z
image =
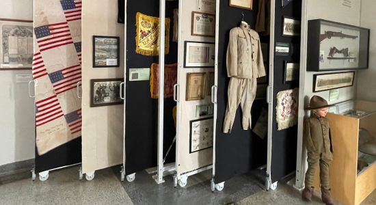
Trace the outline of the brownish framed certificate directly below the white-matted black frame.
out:
M 187 73 L 187 92 L 185 100 L 201 100 L 204 99 L 204 87 L 206 80 L 206 72 L 190 72 Z

